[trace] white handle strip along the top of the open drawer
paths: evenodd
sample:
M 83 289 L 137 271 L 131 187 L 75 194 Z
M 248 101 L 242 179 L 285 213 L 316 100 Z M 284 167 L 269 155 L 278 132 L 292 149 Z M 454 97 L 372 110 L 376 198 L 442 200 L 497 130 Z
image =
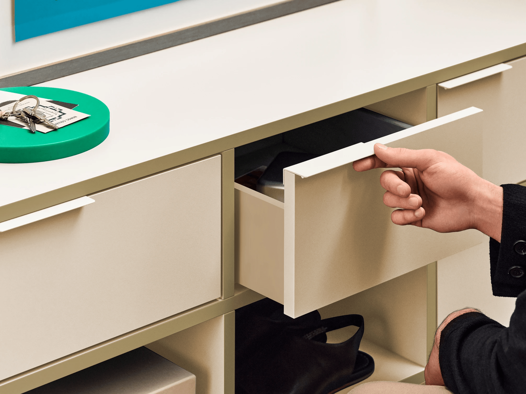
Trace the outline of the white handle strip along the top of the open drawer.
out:
M 284 169 L 284 171 L 292 172 L 299 175 L 302 178 L 308 178 L 312 175 L 319 174 L 331 170 L 340 165 L 349 164 L 355 160 L 363 159 L 365 157 L 375 154 L 373 147 L 375 143 L 388 144 L 400 140 L 405 137 L 412 136 L 422 131 L 432 129 L 434 127 L 445 125 L 446 123 L 465 118 L 473 115 L 474 113 L 481 112 L 482 110 L 477 107 L 470 107 L 463 109 L 458 112 L 450 113 L 449 115 L 443 116 L 438 119 L 430 120 L 429 122 L 422 123 L 418 126 L 413 126 L 405 130 L 397 131 L 396 133 L 389 134 L 389 136 L 380 137 L 376 140 L 372 140 L 366 143 L 359 142 L 350 147 L 343 148 L 331 153 L 324 154 L 314 159 L 304 161 L 299 164 L 291 165 Z

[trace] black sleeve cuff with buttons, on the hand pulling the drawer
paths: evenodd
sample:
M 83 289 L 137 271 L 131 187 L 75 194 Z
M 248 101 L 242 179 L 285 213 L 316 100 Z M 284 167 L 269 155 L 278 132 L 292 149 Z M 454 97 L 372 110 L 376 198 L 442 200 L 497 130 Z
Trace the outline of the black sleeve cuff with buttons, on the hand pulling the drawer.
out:
M 491 286 L 495 296 L 517 297 L 526 289 L 526 187 L 501 186 L 501 242 L 490 239 Z

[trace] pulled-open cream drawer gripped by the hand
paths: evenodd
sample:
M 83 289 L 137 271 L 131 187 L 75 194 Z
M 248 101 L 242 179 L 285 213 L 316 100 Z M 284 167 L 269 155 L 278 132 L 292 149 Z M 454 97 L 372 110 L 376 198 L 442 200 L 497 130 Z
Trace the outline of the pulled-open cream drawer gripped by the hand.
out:
M 352 169 L 380 142 L 445 151 L 481 174 L 479 112 L 467 108 L 351 146 L 341 129 L 323 127 L 330 119 L 315 123 L 322 139 L 342 149 L 285 168 L 284 203 L 235 184 L 236 281 L 297 317 L 482 242 L 475 230 L 440 234 L 393 224 L 382 203 L 383 170 Z M 311 138 L 313 127 L 288 131 L 292 139 L 283 135 L 305 150 L 302 136 L 321 140 Z

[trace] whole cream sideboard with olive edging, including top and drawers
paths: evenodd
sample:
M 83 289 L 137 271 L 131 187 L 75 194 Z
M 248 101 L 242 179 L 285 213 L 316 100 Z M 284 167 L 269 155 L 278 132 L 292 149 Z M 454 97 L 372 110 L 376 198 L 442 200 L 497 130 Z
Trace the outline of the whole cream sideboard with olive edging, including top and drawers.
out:
M 340 34 L 350 25 L 338 16 L 358 12 L 355 3 L 341 0 L 46 82 L 103 99 L 112 131 L 73 158 L 2 165 L 0 314 L 7 324 L 0 337 L 8 339 L 0 344 L 0 394 L 21 394 L 141 346 L 195 374 L 199 394 L 232 394 L 234 311 L 265 296 L 284 303 L 290 316 L 314 309 L 323 317 L 363 314 L 362 349 L 377 365 L 371 379 L 421 382 L 437 319 L 460 300 L 474 302 L 453 284 L 472 271 L 486 238 L 392 225 L 380 170 L 351 168 L 372 153 L 371 143 L 286 170 L 285 203 L 235 185 L 236 154 L 366 107 L 413 125 L 379 142 L 445 150 L 492 182 L 520 182 L 526 45 L 517 41 L 521 24 L 508 34 L 513 40 L 500 40 L 504 46 L 473 42 L 471 55 L 462 46 L 437 57 L 436 33 L 426 28 L 413 34 L 428 37 L 414 54 L 421 64 L 382 68 L 382 55 L 377 68 L 365 69 L 362 60 L 377 56 L 371 51 L 357 62 L 352 50 L 310 39 L 306 45 L 307 36 L 291 32 L 291 24 L 307 33 L 330 24 Z M 413 15 L 408 23 L 436 19 Z M 295 48 L 308 48 L 309 59 L 321 63 Z M 215 58 L 204 60 L 208 55 Z M 302 59 L 294 72 L 290 56 Z M 512 68 L 474 75 L 503 62 Z M 138 78 L 137 70 L 149 71 Z M 323 80 L 313 79 L 319 75 Z M 469 81 L 440 86 L 459 77 Z M 254 79 L 250 89 L 247 78 Z M 179 115 L 169 127 L 166 119 L 130 123 L 135 92 L 166 91 L 178 92 L 170 108 Z M 90 203 L 72 208 L 76 199 Z M 471 275 L 470 286 L 487 294 L 483 280 Z M 504 310 L 486 302 L 482 309 Z

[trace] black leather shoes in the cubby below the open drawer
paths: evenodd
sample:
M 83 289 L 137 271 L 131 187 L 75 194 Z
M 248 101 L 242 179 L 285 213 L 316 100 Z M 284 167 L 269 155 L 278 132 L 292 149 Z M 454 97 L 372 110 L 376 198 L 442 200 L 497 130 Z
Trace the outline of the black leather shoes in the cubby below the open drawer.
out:
M 265 312 L 256 324 L 258 333 L 264 335 L 249 334 L 251 339 L 246 341 L 246 333 L 239 333 L 240 340 L 250 344 L 242 351 L 236 348 L 236 394 L 333 394 L 368 378 L 375 370 L 372 357 L 358 351 L 362 316 L 317 320 L 319 314 L 311 313 L 300 320 L 284 318 L 288 322 L 279 325 L 278 319 L 266 325 L 269 309 Z M 256 318 L 246 324 L 236 312 L 236 347 L 238 320 L 240 329 L 258 322 Z M 325 343 L 328 331 L 350 325 L 359 327 L 351 338 L 341 344 Z

